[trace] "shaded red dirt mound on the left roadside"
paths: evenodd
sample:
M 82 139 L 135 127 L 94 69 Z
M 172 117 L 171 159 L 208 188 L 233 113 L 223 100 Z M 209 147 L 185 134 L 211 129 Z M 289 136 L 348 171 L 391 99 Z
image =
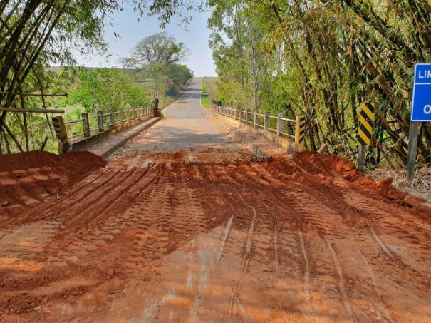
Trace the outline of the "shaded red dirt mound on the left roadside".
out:
M 0 155 L 0 215 L 14 214 L 61 194 L 104 165 L 104 160 L 88 152 Z

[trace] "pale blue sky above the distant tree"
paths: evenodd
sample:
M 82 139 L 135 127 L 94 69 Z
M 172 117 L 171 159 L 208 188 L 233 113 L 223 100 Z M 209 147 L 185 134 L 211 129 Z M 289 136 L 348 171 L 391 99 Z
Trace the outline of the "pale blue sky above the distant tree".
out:
M 209 9 L 208 9 L 209 10 Z M 113 26 L 107 26 L 105 39 L 109 44 L 109 58 L 106 56 L 93 56 L 91 58 L 76 57 L 78 63 L 87 67 L 120 67 L 118 58 L 129 57 L 135 44 L 147 36 L 165 31 L 174 36 L 177 42 L 185 43 L 191 50 L 189 59 L 183 63 L 189 66 L 194 76 L 217 76 L 212 51 L 208 47 L 210 31 L 207 29 L 209 11 L 191 13 L 193 19 L 187 26 L 178 26 L 179 19 L 172 19 L 171 23 L 160 29 L 157 17 L 142 17 L 137 21 L 139 15 L 132 9 L 115 13 Z M 115 37 L 114 32 L 120 34 Z

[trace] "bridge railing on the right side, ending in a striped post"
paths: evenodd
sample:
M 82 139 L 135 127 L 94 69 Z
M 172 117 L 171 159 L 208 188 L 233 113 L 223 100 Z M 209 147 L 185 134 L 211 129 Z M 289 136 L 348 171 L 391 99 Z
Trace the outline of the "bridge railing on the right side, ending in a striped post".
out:
M 254 128 L 262 128 L 264 131 L 274 133 L 279 137 L 294 139 L 298 144 L 298 150 L 303 150 L 305 139 L 305 117 L 296 116 L 294 119 L 284 118 L 284 113 L 271 116 L 269 112 L 254 113 L 250 110 L 241 110 L 229 106 L 224 106 L 220 101 L 212 101 L 212 105 L 217 109 L 217 113 L 228 118 L 251 125 Z

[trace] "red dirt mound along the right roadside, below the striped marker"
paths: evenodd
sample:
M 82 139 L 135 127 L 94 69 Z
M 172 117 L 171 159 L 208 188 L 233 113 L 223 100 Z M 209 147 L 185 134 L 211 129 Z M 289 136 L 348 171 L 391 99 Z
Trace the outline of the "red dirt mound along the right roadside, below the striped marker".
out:
M 338 155 L 321 155 L 306 151 L 295 154 L 293 160 L 282 157 L 269 158 L 265 168 L 276 174 L 279 179 L 296 180 L 303 185 L 312 186 L 313 189 L 322 186 L 330 190 L 333 187 L 331 178 L 343 178 L 351 187 L 365 195 L 375 198 L 377 193 L 388 202 L 407 207 L 415 215 L 431 217 L 431 207 L 427 205 L 426 200 L 394 188 L 391 185 L 392 178 L 375 181 L 365 176 L 356 170 L 355 164 L 350 160 Z

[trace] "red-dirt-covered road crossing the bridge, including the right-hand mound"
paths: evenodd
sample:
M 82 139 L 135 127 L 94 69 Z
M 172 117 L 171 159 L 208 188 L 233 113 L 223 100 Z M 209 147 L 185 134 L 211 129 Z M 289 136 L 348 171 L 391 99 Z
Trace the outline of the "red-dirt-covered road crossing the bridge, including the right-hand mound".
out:
M 199 86 L 63 195 L 1 217 L 0 321 L 431 322 L 429 220 L 336 156 L 255 160 Z

